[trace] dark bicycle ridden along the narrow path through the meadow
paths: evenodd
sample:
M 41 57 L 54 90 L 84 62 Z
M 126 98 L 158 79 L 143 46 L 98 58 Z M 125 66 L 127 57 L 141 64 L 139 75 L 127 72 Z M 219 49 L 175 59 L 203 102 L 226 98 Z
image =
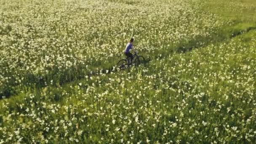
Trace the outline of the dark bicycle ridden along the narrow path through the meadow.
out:
M 144 61 L 145 61 L 144 57 L 138 56 L 138 51 L 136 51 L 133 54 L 132 59 L 126 56 L 126 59 L 121 59 L 120 61 L 118 61 L 117 67 L 119 69 L 125 69 L 125 67 L 128 67 L 132 64 L 139 65 L 141 63 L 144 63 Z

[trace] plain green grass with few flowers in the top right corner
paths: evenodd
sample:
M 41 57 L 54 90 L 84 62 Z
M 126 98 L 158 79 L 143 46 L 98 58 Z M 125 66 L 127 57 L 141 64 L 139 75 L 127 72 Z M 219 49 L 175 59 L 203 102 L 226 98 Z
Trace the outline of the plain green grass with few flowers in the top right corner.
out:
M 254 29 L 256 27 L 254 0 L 205 0 L 203 10 L 215 13 L 221 21 L 226 22 L 221 28 L 221 34 L 226 34 L 225 39 L 244 32 L 250 27 Z

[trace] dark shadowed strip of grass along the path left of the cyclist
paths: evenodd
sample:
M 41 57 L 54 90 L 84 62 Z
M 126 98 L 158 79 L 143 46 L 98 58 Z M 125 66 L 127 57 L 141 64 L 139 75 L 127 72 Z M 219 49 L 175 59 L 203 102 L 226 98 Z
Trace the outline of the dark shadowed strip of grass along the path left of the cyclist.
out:
M 150 59 L 146 59 L 143 64 L 149 63 Z M 80 69 L 77 71 L 76 69 Z M 70 83 L 75 80 L 81 80 L 85 77 L 92 77 L 95 75 L 101 74 L 110 74 L 111 72 L 116 72 L 116 66 L 112 66 L 106 69 L 100 69 L 97 71 L 85 71 L 85 67 L 70 68 L 64 71 L 56 71 L 51 74 L 41 77 L 40 75 L 27 74 L 26 79 L 22 82 L 24 88 L 20 88 L 18 85 L 6 84 L 2 88 L 2 93 L 0 93 L 0 99 L 9 98 L 10 96 L 17 95 L 20 91 L 31 91 L 31 90 L 40 90 L 46 85 L 51 85 L 51 80 L 55 82 L 54 87 L 59 87 L 66 83 Z

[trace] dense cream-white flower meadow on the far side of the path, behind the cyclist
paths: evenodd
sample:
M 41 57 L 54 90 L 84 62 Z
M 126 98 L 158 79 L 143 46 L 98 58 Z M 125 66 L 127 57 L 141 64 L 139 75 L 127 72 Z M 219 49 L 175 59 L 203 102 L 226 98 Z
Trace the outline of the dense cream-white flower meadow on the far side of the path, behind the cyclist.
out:
M 61 85 L 109 68 L 124 57 L 130 37 L 145 56 L 154 56 L 203 45 L 223 25 L 184 1 L 131 2 L 6 1 L 0 16 L 0 94 Z

